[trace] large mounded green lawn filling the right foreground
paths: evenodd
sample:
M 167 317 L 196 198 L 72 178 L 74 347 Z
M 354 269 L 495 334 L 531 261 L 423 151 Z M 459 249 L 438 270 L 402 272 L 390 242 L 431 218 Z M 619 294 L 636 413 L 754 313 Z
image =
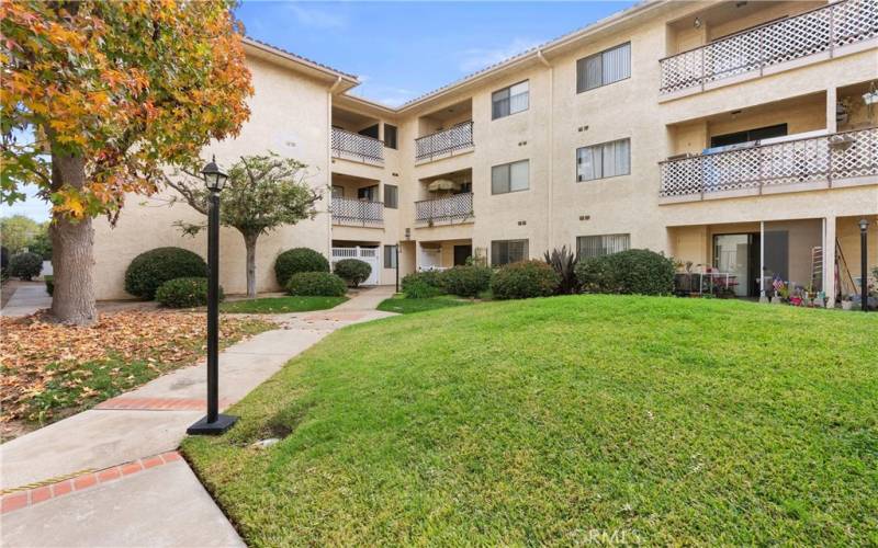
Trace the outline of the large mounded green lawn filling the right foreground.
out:
M 732 300 L 437 310 L 334 333 L 183 449 L 250 546 L 875 545 L 877 339 Z

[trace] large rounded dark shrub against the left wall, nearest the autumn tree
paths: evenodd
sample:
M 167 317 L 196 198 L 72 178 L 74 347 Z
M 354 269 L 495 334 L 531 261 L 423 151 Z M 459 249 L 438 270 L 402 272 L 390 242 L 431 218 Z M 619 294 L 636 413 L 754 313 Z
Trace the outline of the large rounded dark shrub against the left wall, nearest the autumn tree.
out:
M 182 248 L 156 248 L 134 258 L 125 271 L 125 290 L 153 300 L 156 289 L 178 277 L 207 277 L 207 263 Z

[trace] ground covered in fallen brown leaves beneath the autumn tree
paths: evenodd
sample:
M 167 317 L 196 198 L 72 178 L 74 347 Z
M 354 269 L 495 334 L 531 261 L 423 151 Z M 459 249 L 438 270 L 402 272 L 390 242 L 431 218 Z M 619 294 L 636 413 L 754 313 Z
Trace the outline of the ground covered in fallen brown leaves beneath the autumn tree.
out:
M 205 353 L 203 313 L 102 313 L 91 327 L 44 316 L 0 318 L 0 423 L 47 422 L 194 364 Z M 272 323 L 223 316 L 219 344 L 271 329 Z

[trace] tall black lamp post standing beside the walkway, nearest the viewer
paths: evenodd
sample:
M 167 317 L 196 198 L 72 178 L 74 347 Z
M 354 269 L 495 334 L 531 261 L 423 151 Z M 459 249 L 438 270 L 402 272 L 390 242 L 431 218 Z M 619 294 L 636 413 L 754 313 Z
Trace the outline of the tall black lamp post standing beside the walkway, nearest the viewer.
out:
M 189 426 L 187 434 L 222 434 L 237 416 L 219 414 L 219 192 L 228 175 L 216 165 L 216 157 L 202 170 L 210 191 L 207 208 L 207 415 Z

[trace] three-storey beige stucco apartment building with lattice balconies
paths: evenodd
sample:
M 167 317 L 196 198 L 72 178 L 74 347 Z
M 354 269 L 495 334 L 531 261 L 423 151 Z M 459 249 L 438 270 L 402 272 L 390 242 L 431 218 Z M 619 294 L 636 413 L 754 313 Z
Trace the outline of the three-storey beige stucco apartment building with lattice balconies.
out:
M 832 298 L 859 283 L 859 228 L 878 263 L 878 1 L 644 2 L 398 109 L 356 77 L 248 39 L 252 116 L 210 153 L 267 149 L 325 189 L 314 220 L 260 240 L 277 254 L 360 256 L 371 283 L 539 258 L 663 251 L 758 296 L 773 277 Z M 441 62 L 441 61 L 437 61 Z M 99 226 L 98 295 L 124 297 L 130 261 L 204 253 L 172 226 L 183 205 L 132 197 Z M 221 282 L 245 288 L 244 246 L 222 233 Z

